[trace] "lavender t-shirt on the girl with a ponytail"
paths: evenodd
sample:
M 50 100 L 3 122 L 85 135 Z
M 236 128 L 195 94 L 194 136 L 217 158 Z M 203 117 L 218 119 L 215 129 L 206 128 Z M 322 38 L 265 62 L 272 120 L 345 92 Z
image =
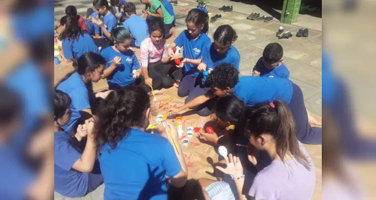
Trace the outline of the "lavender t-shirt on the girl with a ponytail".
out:
M 248 195 L 256 200 L 309 200 L 316 183 L 315 166 L 304 146 L 299 142 L 300 149 L 311 161 L 311 169 L 307 170 L 295 160 L 272 161 L 255 177 Z M 289 164 L 288 164 L 289 163 Z

